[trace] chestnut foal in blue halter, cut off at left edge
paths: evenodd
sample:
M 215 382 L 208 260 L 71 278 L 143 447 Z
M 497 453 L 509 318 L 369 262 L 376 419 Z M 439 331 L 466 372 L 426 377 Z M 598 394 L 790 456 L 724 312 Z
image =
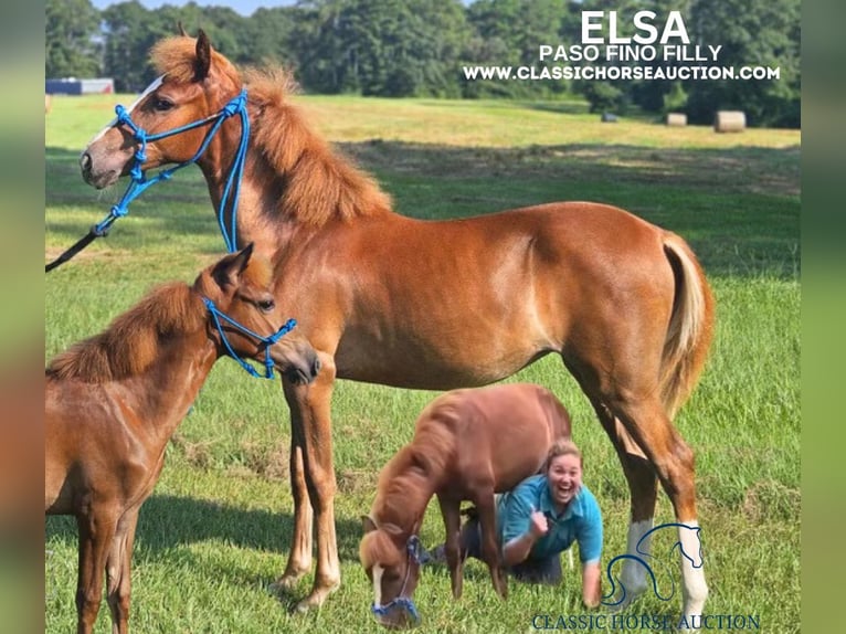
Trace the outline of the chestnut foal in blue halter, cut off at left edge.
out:
M 193 287 L 154 290 L 47 367 L 44 510 L 76 516 L 77 632 L 94 627 L 104 570 L 113 632 L 127 632 L 138 510 L 214 361 L 228 352 L 266 359 L 293 383 L 313 380 L 317 355 L 302 334 L 275 342 L 285 313 L 269 284 L 269 264 L 251 260 L 247 247 L 203 271 Z

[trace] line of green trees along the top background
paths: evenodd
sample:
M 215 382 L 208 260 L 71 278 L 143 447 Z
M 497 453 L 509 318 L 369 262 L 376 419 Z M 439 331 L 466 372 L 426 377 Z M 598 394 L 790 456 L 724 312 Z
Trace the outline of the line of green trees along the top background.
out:
M 176 34 L 181 23 L 191 33 L 203 29 L 236 64 L 289 68 L 306 93 L 543 99 L 579 94 L 595 112 L 684 112 L 691 123 L 710 123 L 717 109 L 741 109 L 753 126 L 800 127 L 800 4 L 801 0 L 304 0 L 244 17 L 226 7 L 193 2 L 148 10 L 131 0 L 99 11 L 91 0 L 46 0 L 45 74 L 110 76 L 117 91 L 138 92 L 154 80 L 147 60 L 150 46 Z M 465 65 L 541 66 L 541 44 L 580 43 L 582 12 L 588 10 L 616 11 L 620 36 L 637 33 L 632 24 L 637 11 L 654 11 L 658 29 L 670 11 L 680 11 L 691 42 L 722 46 L 721 66 L 779 67 L 780 78 L 509 82 L 463 75 Z

